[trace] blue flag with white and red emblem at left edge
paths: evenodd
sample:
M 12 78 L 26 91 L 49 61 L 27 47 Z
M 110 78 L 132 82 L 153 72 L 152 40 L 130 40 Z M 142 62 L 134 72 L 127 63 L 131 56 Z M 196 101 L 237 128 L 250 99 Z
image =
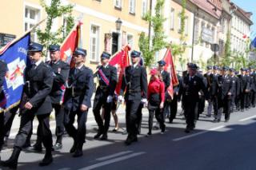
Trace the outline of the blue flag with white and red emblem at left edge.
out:
M 5 98 L 0 101 L 0 110 L 11 109 L 21 100 L 29 45 L 30 33 L 0 51 L 0 59 L 6 62 L 8 68 L 2 87 Z

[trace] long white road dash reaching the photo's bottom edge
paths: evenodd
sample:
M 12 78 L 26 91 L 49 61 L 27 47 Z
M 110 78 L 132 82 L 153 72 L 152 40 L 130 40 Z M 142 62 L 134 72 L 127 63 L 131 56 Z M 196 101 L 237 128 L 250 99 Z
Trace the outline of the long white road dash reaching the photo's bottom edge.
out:
M 136 152 L 136 153 L 132 153 L 130 155 L 127 155 L 127 156 L 121 156 L 121 157 L 118 157 L 118 158 L 114 158 L 113 160 L 106 160 L 104 162 L 100 162 L 98 164 L 92 164 L 88 167 L 85 167 L 85 168 L 80 168 L 80 170 L 90 170 L 90 169 L 94 169 L 94 168 L 99 168 L 99 167 L 102 167 L 106 164 L 113 164 L 115 162 L 118 162 L 118 161 L 122 161 L 122 160 L 127 160 L 127 159 L 130 159 L 132 157 L 135 157 L 135 156 L 140 156 L 142 154 L 145 154 L 146 152 Z

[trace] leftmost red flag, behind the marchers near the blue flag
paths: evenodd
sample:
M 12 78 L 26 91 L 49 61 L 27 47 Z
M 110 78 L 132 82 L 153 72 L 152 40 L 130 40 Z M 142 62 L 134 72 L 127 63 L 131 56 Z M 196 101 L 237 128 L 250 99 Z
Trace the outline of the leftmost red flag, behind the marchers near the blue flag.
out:
M 78 22 L 78 25 L 74 26 L 74 29 L 70 31 L 70 34 L 68 34 L 64 42 L 62 42 L 62 45 L 60 48 L 61 60 L 68 63 L 70 67 L 74 67 L 72 56 L 73 56 L 74 50 L 78 47 L 81 25 L 82 25 L 82 22 Z M 66 90 L 65 85 L 62 85 L 61 89 L 62 89 L 62 100 L 60 102 L 62 104 L 64 100 L 65 90 Z

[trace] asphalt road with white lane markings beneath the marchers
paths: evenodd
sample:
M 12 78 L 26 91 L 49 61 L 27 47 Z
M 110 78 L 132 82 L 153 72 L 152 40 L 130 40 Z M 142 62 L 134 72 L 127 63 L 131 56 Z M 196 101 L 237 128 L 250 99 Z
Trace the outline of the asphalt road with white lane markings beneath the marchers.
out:
M 122 128 L 125 127 L 124 113 L 118 113 Z M 89 115 L 84 156 L 73 158 L 70 137 L 63 139 L 64 147 L 54 152 L 54 162 L 43 169 L 172 169 L 172 170 L 244 170 L 256 169 L 256 109 L 244 113 L 232 113 L 230 122 L 213 123 L 213 117 L 203 114 L 197 122 L 194 132 L 185 133 L 185 121 L 178 114 L 173 124 L 166 123 L 166 133 L 146 137 L 147 111 L 144 110 L 142 135 L 138 142 L 126 146 L 126 135 L 109 132 L 108 141 L 94 140 L 94 128 L 97 128 L 93 117 Z M 111 125 L 114 125 L 111 121 Z M 35 124 L 36 125 L 36 124 Z M 54 125 L 54 124 L 53 124 Z M 54 126 L 53 132 L 54 132 Z M 110 130 L 114 127 L 110 127 Z M 15 129 L 12 134 L 16 133 Z M 34 139 L 35 136 L 33 136 Z M 12 135 L 14 138 L 14 135 Z M 10 148 L 1 152 L 2 160 L 11 153 Z M 38 162 L 43 153 L 22 152 L 18 169 L 42 169 Z

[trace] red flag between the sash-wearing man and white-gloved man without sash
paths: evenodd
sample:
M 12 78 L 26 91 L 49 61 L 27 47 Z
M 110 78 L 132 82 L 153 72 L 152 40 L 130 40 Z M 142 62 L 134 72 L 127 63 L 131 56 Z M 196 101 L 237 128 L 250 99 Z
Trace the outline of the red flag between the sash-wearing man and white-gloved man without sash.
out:
M 122 86 L 122 77 L 125 73 L 125 69 L 130 65 L 128 52 L 130 51 L 130 46 L 125 45 L 121 51 L 115 53 L 110 59 L 110 65 L 115 66 L 118 69 L 118 84 L 115 88 L 115 93 L 119 95 Z

